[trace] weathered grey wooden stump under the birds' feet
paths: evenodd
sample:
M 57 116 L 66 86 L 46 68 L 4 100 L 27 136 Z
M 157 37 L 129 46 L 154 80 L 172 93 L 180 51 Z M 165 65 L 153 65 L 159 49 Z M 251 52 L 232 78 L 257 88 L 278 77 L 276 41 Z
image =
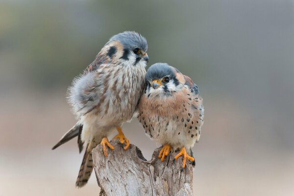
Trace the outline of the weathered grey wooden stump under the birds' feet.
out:
M 182 158 L 174 160 L 175 152 L 161 162 L 157 148 L 147 161 L 134 145 L 124 150 L 117 140 L 110 143 L 114 150 L 107 149 L 107 157 L 101 145 L 92 151 L 100 196 L 193 196 L 192 166 L 182 169 Z

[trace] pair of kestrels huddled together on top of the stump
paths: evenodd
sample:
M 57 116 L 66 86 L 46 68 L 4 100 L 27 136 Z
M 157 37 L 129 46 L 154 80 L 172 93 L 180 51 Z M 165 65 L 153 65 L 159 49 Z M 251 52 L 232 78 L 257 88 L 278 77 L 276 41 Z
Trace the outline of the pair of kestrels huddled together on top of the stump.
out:
M 200 138 L 203 124 L 202 98 L 192 79 L 166 63 L 155 63 L 146 73 L 147 40 L 125 31 L 105 44 L 96 59 L 69 88 L 69 102 L 78 122 L 52 148 L 78 137 L 79 151 L 86 148 L 76 180 L 84 186 L 92 171 L 91 151 L 98 144 L 114 149 L 107 136 L 115 129 L 124 149 L 129 140 L 122 125 L 136 114 L 146 134 L 163 145 L 161 161 L 173 150 L 194 162 L 191 148 Z

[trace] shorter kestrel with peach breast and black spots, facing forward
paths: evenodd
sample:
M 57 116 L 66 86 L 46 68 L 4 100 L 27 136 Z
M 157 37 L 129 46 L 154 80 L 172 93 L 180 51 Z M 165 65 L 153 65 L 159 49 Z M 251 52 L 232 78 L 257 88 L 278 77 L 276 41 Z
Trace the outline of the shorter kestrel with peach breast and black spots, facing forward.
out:
M 155 63 L 147 70 L 145 90 L 138 104 L 138 120 L 146 135 L 162 146 L 158 158 L 171 150 L 195 166 L 192 147 L 199 141 L 204 107 L 193 80 L 167 63 Z

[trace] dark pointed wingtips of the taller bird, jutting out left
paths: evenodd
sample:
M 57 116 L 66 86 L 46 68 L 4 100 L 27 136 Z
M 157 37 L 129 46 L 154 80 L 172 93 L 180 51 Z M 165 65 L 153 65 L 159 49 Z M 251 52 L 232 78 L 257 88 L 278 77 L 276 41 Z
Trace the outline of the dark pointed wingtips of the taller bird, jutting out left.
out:
M 64 136 L 62 136 L 60 141 L 54 147 L 52 147 L 52 150 L 55 149 L 56 147 L 59 147 L 60 145 L 62 145 L 64 143 L 70 141 L 74 137 L 79 136 L 78 137 L 78 147 L 81 152 L 83 144 L 82 144 L 82 141 L 80 140 L 80 134 L 82 132 L 82 129 L 83 129 L 83 125 L 80 124 L 79 122 L 77 122 L 68 132 L 66 132 L 66 134 L 64 134 Z

